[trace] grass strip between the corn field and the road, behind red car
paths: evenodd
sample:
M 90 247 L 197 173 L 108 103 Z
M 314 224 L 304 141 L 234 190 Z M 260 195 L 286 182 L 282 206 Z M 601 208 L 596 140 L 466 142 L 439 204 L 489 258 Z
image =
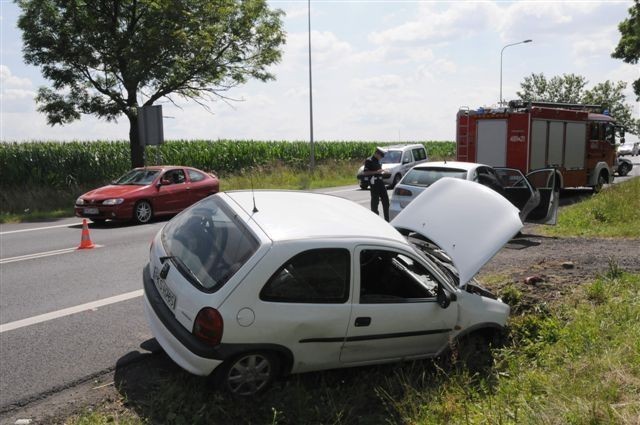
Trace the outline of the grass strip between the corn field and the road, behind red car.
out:
M 354 185 L 362 161 L 326 161 L 313 173 L 286 164 L 256 166 L 233 174 L 220 175 L 220 190 L 318 189 Z M 103 184 L 107 184 L 104 182 Z M 3 187 L 0 191 L 0 223 L 38 221 L 72 217 L 76 198 L 101 186 L 72 185 L 66 189 L 47 187 Z

